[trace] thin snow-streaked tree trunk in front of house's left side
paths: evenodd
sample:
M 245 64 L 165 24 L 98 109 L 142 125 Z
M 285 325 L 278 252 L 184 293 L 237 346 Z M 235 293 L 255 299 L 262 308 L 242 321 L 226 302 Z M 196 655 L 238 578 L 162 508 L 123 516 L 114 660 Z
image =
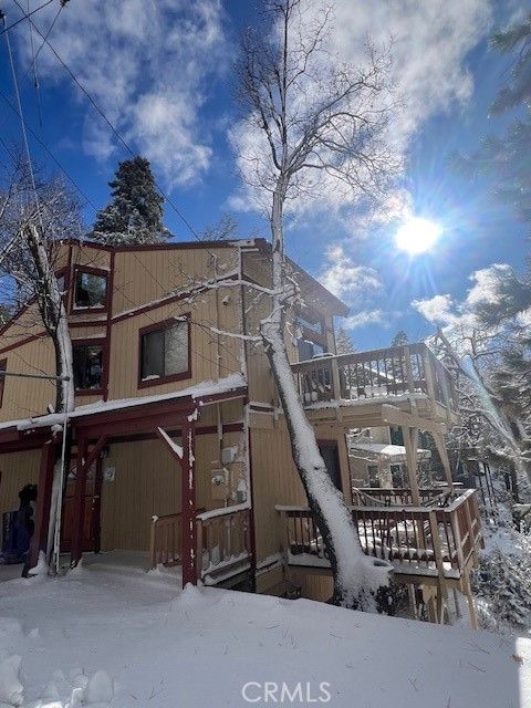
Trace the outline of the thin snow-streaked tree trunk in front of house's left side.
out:
M 72 435 L 67 420 L 69 413 L 74 409 L 72 340 L 70 336 L 66 309 L 64 306 L 62 293 L 59 289 L 53 266 L 50 262 L 44 236 L 41 235 L 38 227 L 31 222 L 25 228 L 25 236 L 39 279 L 35 288 L 38 292 L 37 301 L 39 310 L 43 324 L 52 337 L 55 352 L 55 374 L 58 377 L 55 413 L 64 415 L 64 425 L 62 426 L 64 444 L 61 448 L 58 448 L 55 464 L 53 467 L 50 522 L 46 543 L 46 561 L 50 563 L 54 548 L 54 539 L 58 531 L 56 520 L 62 504 L 63 487 L 66 478 L 64 471 L 69 468 L 72 447 Z M 63 485 L 61 483 L 62 480 Z

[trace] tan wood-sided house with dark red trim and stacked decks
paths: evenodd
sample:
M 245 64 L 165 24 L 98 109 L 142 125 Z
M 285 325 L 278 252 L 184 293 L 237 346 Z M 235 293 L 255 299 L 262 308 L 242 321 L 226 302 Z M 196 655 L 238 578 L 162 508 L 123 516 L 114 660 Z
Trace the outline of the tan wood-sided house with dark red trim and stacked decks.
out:
M 75 410 L 67 419 L 53 413 L 49 379 L 10 375 L 0 384 L 0 512 L 17 508 L 25 483 L 38 485 L 33 562 L 46 545 L 53 465 L 67 429 L 61 546 L 73 564 L 84 552 L 119 549 L 144 553 L 146 568 L 180 564 L 184 583 L 330 597 L 326 550 L 257 341 L 270 256 L 261 239 L 60 246 Z M 287 317 L 293 376 L 365 552 L 392 560 L 414 608 L 420 600 L 434 620 L 444 620 L 449 589 L 473 611 L 477 503 L 473 491 L 452 489 L 442 437 L 457 420 L 451 377 L 424 344 L 336 356 L 334 316 L 346 306 L 293 263 L 291 274 L 305 302 Z M 35 303 L 1 331 L 0 366 L 55 371 Z M 388 426 L 403 434 L 407 490 L 353 493 L 346 433 Z M 446 489 L 418 487 L 419 429 L 434 437 Z

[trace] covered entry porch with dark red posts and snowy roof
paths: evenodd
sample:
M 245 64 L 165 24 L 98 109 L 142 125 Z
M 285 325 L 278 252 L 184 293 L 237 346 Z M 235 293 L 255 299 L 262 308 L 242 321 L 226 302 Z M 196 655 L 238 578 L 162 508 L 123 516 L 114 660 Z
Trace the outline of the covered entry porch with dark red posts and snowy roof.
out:
M 184 584 L 216 584 L 248 570 L 253 552 L 246 396 L 246 382 L 232 375 L 70 414 L 73 450 L 61 517 L 61 549 L 70 550 L 70 564 L 101 549 L 144 552 L 145 570 L 158 554 L 160 562 L 180 565 Z M 63 426 L 62 416 L 48 415 L 0 429 L 0 451 L 34 450 L 24 472 L 38 483 L 30 566 L 49 543 Z M 10 467 L 14 480 L 17 459 Z

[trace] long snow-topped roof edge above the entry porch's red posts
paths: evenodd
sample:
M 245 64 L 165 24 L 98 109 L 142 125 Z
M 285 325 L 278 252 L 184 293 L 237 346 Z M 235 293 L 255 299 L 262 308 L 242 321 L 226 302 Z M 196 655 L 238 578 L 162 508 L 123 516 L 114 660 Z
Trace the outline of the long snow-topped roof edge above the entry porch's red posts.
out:
M 160 403 L 164 400 L 178 400 L 180 398 L 191 398 L 201 405 L 200 399 L 218 394 L 228 394 L 231 391 L 247 386 L 247 382 L 241 374 L 230 374 L 218 381 L 204 381 L 181 391 L 173 391 L 167 394 L 156 394 L 154 396 L 136 396 L 134 398 L 119 398 L 115 400 L 96 400 L 85 406 L 79 406 L 69 414 L 69 418 L 83 418 L 93 416 L 98 413 L 108 413 L 111 410 L 122 410 L 124 408 L 133 408 L 135 406 L 145 406 L 146 404 Z M 61 413 L 51 413 L 34 418 L 21 418 L 19 420 L 8 420 L 0 424 L 0 430 L 7 428 L 17 428 L 17 430 L 30 430 L 33 428 L 48 428 L 52 426 L 62 426 L 64 424 L 64 415 Z

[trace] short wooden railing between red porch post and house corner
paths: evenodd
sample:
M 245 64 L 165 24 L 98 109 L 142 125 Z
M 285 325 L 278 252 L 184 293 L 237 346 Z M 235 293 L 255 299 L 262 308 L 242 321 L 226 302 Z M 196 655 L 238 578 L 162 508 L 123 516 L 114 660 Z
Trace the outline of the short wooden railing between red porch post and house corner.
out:
M 228 572 L 251 558 L 250 509 L 216 509 L 197 516 L 198 575 Z

